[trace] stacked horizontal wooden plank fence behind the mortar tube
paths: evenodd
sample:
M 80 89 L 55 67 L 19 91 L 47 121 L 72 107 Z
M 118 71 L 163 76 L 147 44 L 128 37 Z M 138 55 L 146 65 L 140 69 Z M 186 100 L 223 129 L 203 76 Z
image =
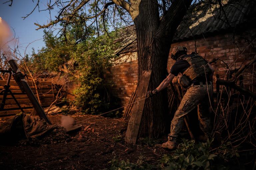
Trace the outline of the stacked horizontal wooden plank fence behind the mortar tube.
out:
M 5 84 L 6 84 L 6 81 L 0 80 L 0 91 L 3 89 Z M 52 82 L 50 81 L 38 82 L 36 84 L 36 87 L 33 82 L 28 82 L 28 84 L 32 89 L 33 93 L 35 94 L 36 98 L 37 98 L 37 94 L 36 94 L 36 87 L 37 87 L 37 92 L 39 95 L 39 99 L 41 101 L 41 106 L 43 108 L 50 106 L 50 104 L 55 100 L 57 91 L 52 87 Z M 18 103 L 26 113 L 31 113 L 34 110 L 30 100 L 28 99 L 28 96 L 25 93 L 22 93 L 18 84 L 15 81 L 10 82 L 10 90 L 12 91 Z M 3 98 L 3 93 L 0 94 L 0 102 L 2 101 L 2 98 Z M 16 115 L 20 112 L 21 111 L 18 105 L 15 103 L 12 96 L 8 93 L 4 109 L 0 111 L 0 116 Z

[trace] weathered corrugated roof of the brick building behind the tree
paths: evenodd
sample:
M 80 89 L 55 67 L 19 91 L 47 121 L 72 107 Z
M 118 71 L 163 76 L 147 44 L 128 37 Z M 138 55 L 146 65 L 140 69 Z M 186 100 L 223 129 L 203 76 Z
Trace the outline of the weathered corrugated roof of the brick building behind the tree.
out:
M 255 22 L 256 5 L 253 0 L 222 0 L 222 3 L 223 10 L 218 4 L 198 3 L 191 6 L 177 28 L 173 41 L 182 41 L 192 38 L 193 35 L 220 32 L 244 23 Z M 119 54 L 137 50 L 135 26 L 129 26 L 129 29 L 132 32 L 124 32 L 128 43 L 117 50 Z

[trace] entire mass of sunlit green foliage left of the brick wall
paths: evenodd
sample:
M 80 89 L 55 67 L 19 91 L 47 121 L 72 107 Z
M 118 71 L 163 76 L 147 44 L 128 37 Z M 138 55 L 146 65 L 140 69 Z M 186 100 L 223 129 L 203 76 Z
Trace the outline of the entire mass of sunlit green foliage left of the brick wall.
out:
M 115 57 L 114 50 L 118 43 L 113 43 L 117 32 L 109 37 L 103 34 L 99 37 L 91 30 L 86 40 L 76 42 L 76 27 L 68 28 L 66 37 L 54 37 L 52 32 L 45 32 L 46 47 L 38 54 L 33 54 L 34 65 L 43 70 L 59 72 L 59 66 L 72 60 L 74 64 L 69 69 L 71 79 L 77 79 L 80 87 L 74 91 L 76 99 L 74 104 L 81 108 L 82 113 L 101 114 L 112 107 L 116 108 L 117 98 L 111 96 L 113 83 L 104 77 Z M 68 42 L 66 42 L 66 38 Z M 36 68 L 39 70 L 38 68 Z M 66 73 L 65 73 L 66 74 Z M 77 78 L 78 75 L 78 78 Z M 120 116 L 119 111 L 109 113 L 107 116 Z

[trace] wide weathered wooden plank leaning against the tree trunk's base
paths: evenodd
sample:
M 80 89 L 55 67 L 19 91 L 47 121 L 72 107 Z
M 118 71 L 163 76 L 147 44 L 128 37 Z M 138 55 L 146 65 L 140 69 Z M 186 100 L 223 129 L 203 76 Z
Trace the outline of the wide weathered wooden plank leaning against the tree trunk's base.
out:
M 138 85 L 138 91 L 137 91 L 137 96 L 135 101 L 145 98 L 146 93 L 148 91 L 148 83 L 150 81 L 150 77 L 151 77 L 150 70 L 143 71 L 141 82 Z M 128 123 L 127 131 L 125 134 L 125 141 L 128 143 L 136 144 L 137 142 L 141 117 L 144 110 L 144 104 L 145 104 L 145 100 L 142 100 L 134 104 L 134 108 L 133 108 L 133 111 Z

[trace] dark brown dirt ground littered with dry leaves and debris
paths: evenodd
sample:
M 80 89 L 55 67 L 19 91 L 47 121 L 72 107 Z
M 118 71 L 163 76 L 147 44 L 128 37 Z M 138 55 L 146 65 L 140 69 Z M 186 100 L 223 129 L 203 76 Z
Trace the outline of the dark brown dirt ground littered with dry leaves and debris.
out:
M 72 117 L 78 122 L 92 115 Z M 11 118 L 1 118 L 1 124 Z M 61 115 L 49 116 L 49 119 L 60 125 Z M 83 125 L 82 129 L 71 134 L 60 131 L 40 141 L 23 140 L 0 146 L 0 169 L 104 169 L 111 166 L 109 161 L 114 158 L 136 163 L 141 155 L 148 163 L 157 164 L 157 160 L 168 153 L 142 138 L 137 145 L 126 144 L 127 119 L 99 116 L 79 124 Z

